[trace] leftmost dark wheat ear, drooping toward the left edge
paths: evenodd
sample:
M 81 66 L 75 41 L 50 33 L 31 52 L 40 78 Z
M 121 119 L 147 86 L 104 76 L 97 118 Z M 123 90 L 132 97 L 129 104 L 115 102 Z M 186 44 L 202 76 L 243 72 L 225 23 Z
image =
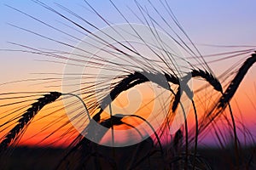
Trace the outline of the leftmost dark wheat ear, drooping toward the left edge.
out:
M 22 129 L 31 122 L 32 118 L 38 114 L 44 105 L 54 102 L 61 96 L 59 92 L 50 92 L 45 94 L 44 97 L 37 99 L 38 101 L 32 104 L 32 107 L 26 110 L 26 112 L 21 116 L 15 127 L 13 127 L 9 133 L 7 133 L 0 144 L 0 152 L 7 149 L 9 144 L 20 134 Z

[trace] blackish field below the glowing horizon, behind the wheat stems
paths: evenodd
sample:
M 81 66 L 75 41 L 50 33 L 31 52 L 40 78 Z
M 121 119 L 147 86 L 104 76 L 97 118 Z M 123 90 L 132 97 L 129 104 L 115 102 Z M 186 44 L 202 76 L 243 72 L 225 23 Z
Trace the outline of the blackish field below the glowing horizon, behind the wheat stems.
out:
M 107 147 L 100 147 L 99 150 L 105 156 L 110 156 L 113 150 Z M 240 155 L 240 165 L 238 169 L 254 169 L 255 158 L 251 157 L 253 147 L 243 148 Z M 115 160 L 117 160 L 117 169 L 125 169 L 125 166 L 129 166 L 129 162 L 134 158 L 133 154 L 136 151 L 136 146 L 130 146 L 125 148 L 115 148 Z M 142 157 L 144 153 L 147 153 L 147 148 L 143 148 L 137 153 L 137 159 Z M 13 150 L 12 155 L 4 156 L 1 160 L 1 169 L 55 169 L 55 166 L 65 155 L 66 150 L 57 148 L 29 148 L 19 147 Z M 199 148 L 199 156 L 202 160 L 206 161 L 212 169 L 235 169 L 235 154 L 233 149 L 218 149 L 218 148 Z M 251 164 L 247 167 L 247 162 L 252 159 Z M 73 160 L 74 157 L 73 157 Z M 130 161 L 129 161 L 130 160 Z M 104 161 L 101 161 L 102 169 L 109 169 L 108 165 L 104 166 Z M 160 154 L 155 153 L 151 156 L 150 161 L 143 161 L 135 169 L 148 169 L 148 163 L 151 164 L 151 168 L 161 169 Z M 254 161 L 254 162 L 253 162 Z M 95 161 L 88 161 L 88 164 L 84 166 L 84 169 L 95 169 Z M 105 162 L 106 163 L 106 162 Z M 72 168 L 72 164 L 67 165 L 67 168 Z M 74 166 L 75 167 L 75 166 Z M 65 167 L 63 167 L 65 169 Z M 77 168 L 77 167 L 76 167 Z

